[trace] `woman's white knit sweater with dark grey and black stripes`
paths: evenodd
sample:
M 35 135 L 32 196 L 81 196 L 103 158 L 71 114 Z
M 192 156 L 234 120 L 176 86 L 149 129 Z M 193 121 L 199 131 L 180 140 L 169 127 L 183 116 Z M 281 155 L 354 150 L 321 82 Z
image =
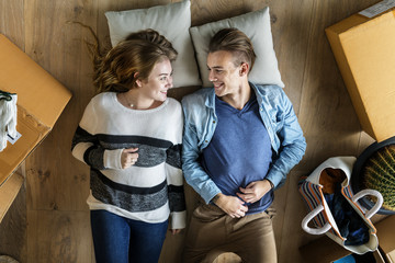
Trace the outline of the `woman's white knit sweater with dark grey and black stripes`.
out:
M 123 106 L 114 92 L 94 96 L 72 141 L 72 155 L 91 167 L 90 209 L 146 222 L 165 221 L 171 213 L 171 228 L 184 228 L 182 127 L 174 99 L 139 111 Z M 135 147 L 137 162 L 122 169 L 122 150 Z

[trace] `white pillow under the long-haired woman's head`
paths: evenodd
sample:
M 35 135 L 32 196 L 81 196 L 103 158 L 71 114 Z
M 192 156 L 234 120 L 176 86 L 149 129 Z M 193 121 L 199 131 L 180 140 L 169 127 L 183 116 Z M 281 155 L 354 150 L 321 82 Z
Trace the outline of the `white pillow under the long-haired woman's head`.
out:
M 132 32 L 146 28 L 156 30 L 170 41 L 178 52 L 178 57 L 172 64 L 173 85 L 201 85 L 189 34 L 191 26 L 190 7 L 190 0 L 185 0 L 149 9 L 105 12 L 111 44 L 115 46 Z

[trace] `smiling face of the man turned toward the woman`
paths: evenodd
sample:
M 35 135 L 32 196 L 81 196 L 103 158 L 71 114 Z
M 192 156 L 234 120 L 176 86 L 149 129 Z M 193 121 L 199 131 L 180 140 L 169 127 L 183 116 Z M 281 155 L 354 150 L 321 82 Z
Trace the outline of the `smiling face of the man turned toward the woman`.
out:
M 241 85 L 240 66 L 235 66 L 233 54 L 218 50 L 207 56 L 208 80 L 219 98 L 234 95 Z

